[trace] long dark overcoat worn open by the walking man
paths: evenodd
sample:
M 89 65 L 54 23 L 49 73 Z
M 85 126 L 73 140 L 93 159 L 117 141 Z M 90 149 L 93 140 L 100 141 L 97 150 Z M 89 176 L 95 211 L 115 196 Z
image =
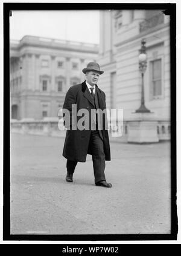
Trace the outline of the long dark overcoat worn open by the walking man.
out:
M 105 93 L 96 86 L 98 105 L 101 110 L 106 109 L 106 95 Z M 86 81 L 82 84 L 73 85 L 69 88 L 65 96 L 65 102 L 63 104 L 63 110 L 69 110 L 70 120 L 72 119 L 72 104 L 77 104 L 77 110 L 86 109 L 89 111 L 89 116 L 91 116 L 91 109 L 94 109 L 94 102 L 92 96 L 90 95 L 89 89 L 87 88 Z M 77 122 L 82 116 L 77 116 Z M 105 120 L 106 119 L 106 120 Z M 107 117 L 103 115 L 103 123 L 107 122 Z M 69 160 L 75 160 L 77 162 L 86 162 L 87 154 L 92 154 L 91 148 L 89 146 L 90 140 L 90 129 L 83 130 L 72 130 L 72 126 L 77 126 L 77 123 L 71 123 L 71 130 L 66 131 L 65 144 L 63 147 L 63 156 Z M 65 123 L 66 126 L 66 123 Z M 103 130 L 101 131 L 101 138 L 104 143 L 104 153 L 106 160 L 110 160 L 110 145 L 109 145 L 109 134 L 107 128 L 103 125 Z

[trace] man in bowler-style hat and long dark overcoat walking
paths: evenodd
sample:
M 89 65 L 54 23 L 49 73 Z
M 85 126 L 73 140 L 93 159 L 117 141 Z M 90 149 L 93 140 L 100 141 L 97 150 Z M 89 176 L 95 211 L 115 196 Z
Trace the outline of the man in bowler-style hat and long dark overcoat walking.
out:
M 109 135 L 107 132 L 107 118 L 103 114 L 100 120 L 98 114 L 92 116 L 92 111 L 106 110 L 105 93 L 97 86 L 100 74 L 100 65 L 96 62 L 89 62 L 84 68 L 83 73 L 86 80 L 82 84 L 73 85 L 69 88 L 63 104 L 64 111 L 69 111 L 70 122 L 64 116 L 66 131 L 63 156 L 67 159 L 66 181 L 73 181 L 73 174 L 77 162 L 86 162 L 87 154 L 92 154 L 95 185 L 111 188 L 112 185 L 106 182 L 104 174 L 105 161 L 110 160 Z M 76 109 L 75 109 L 76 108 Z M 83 129 L 78 128 L 78 122 L 83 118 L 78 114 L 80 111 L 86 111 L 89 117 L 84 117 Z M 97 112 L 98 113 L 98 112 Z M 86 120 L 89 121 L 87 128 Z M 101 128 L 98 125 L 102 121 Z

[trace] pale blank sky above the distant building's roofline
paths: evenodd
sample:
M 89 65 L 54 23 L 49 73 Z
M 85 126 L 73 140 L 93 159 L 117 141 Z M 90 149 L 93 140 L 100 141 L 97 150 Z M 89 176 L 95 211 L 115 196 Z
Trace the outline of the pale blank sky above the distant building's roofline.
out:
M 25 35 L 99 43 L 98 10 L 12 11 L 10 39 Z

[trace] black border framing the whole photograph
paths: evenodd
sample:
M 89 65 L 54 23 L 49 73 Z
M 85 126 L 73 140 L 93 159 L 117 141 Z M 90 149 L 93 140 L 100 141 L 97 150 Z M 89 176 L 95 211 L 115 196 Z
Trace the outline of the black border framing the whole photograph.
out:
M 4 154 L 3 154 L 3 240 L 22 241 L 133 241 L 177 240 L 176 177 L 176 4 L 90 4 L 90 3 L 4 3 Z M 124 10 L 159 9 L 170 15 L 171 65 L 171 234 L 88 234 L 16 235 L 10 234 L 10 27 L 11 10 Z

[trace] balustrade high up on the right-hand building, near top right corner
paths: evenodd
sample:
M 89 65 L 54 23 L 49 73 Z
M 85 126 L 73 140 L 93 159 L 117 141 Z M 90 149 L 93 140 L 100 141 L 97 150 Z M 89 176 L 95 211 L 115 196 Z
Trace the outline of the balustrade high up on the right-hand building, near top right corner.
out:
M 141 33 L 145 30 L 156 27 L 157 25 L 163 24 L 163 23 L 164 23 L 164 14 L 159 13 L 159 15 L 155 15 L 155 16 L 151 17 L 150 19 L 142 21 L 139 24 L 139 32 Z

